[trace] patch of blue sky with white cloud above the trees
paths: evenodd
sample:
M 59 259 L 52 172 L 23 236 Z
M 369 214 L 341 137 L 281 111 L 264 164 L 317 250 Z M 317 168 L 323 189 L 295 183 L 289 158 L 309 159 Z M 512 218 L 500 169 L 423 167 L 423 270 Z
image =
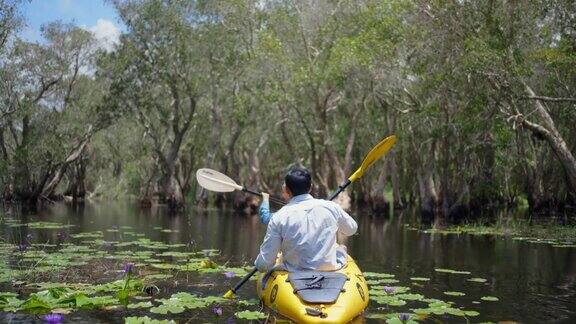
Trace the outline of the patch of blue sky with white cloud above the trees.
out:
M 28 41 L 42 41 L 40 27 L 55 20 L 74 23 L 104 41 L 117 41 L 124 29 L 106 0 L 32 0 L 24 3 L 21 13 L 27 25 L 21 36 Z

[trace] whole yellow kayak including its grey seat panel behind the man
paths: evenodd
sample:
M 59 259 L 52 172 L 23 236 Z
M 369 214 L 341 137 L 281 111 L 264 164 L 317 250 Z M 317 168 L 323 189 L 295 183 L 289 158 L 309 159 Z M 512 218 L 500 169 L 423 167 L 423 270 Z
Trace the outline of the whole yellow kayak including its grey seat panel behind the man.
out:
M 274 271 L 256 289 L 264 305 L 297 323 L 346 323 L 368 306 L 366 280 L 351 257 L 334 272 Z

